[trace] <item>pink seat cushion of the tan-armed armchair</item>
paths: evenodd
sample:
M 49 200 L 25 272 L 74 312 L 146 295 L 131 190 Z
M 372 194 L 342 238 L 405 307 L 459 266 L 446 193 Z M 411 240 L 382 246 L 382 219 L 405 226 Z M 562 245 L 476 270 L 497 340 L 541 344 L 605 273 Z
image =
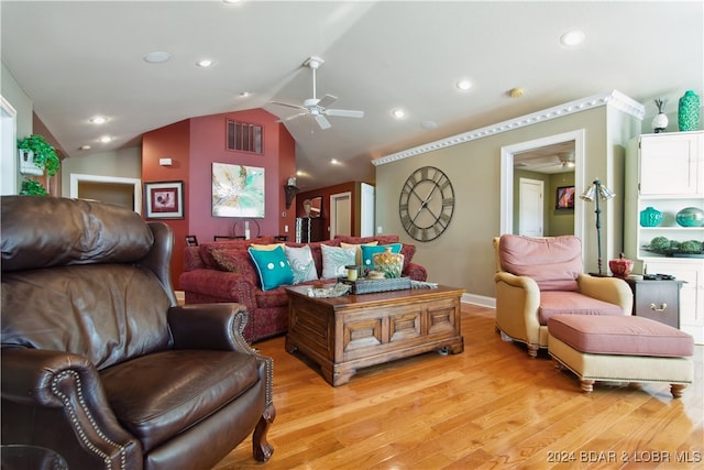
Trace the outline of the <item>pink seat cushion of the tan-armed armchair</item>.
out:
M 544 291 L 540 293 L 538 321 L 548 325 L 548 319 L 554 315 L 624 315 L 620 306 L 592 298 L 572 291 Z

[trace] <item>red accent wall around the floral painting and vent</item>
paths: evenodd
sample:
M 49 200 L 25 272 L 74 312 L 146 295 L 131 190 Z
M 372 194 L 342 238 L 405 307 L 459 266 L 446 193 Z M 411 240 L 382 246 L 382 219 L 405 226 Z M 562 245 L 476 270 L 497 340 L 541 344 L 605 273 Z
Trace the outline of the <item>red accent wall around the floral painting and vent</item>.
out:
M 263 153 L 226 150 L 227 121 L 262 125 Z M 293 230 L 295 215 L 286 211 L 283 187 L 296 173 L 296 144 L 278 118 L 263 109 L 227 112 L 191 118 L 147 132 L 142 138 L 143 183 L 183 181 L 183 220 L 164 220 L 174 230 L 172 280 L 178 287 L 184 270 L 185 238 L 195 234 L 199 242 L 212 241 L 216 234 L 231 234 L 235 218 L 212 217 L 212 163 L 263 167 L 265 171 L 265 217 L 257 219 L 262 236 Z M 172 166 L 160 166 L 160 159 L 172 159 Z M 146 195 L 145 195 L 146 197 Z M 292 206 L 293 208 L 293 206 Z M 286 216 L 284 217 L 284 212 Z M 251 230 L 254 228 L 251 227 Z M 256 233 L 253 232 L 254 237 Z

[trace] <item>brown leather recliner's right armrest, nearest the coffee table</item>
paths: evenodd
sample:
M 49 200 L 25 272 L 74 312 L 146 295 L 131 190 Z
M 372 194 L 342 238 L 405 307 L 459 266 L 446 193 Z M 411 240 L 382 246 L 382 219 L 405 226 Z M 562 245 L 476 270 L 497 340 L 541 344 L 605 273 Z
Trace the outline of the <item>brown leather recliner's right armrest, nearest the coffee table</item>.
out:
M 246 320 L 246 308 L 235 303 L 189 304 L 168 310 L 174 349 L 223 349 L 254 353 L 242 336 Z

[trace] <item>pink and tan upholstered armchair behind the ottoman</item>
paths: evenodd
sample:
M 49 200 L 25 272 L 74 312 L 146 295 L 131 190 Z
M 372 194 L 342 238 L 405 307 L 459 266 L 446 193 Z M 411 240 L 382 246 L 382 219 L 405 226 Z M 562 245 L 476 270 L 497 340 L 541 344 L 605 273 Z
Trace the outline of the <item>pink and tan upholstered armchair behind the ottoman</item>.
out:
M 528 354 L 548 348 L 548 318 L 556 314 L 630 315 L 632 293 L 615 277 L 583 273 L 576 237 L 494 239 L 496 330 L 526 345 Z

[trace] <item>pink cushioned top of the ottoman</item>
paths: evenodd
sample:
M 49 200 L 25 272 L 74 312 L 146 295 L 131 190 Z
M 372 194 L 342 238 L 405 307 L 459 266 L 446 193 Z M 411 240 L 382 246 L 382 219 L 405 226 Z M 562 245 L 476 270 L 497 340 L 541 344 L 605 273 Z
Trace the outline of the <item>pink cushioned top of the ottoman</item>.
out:
M 578 351 L 594 354 L 689 357 L 694 340 L 684 331 L 630 315 L 591 317 L 556 315 L 548 331 Z

